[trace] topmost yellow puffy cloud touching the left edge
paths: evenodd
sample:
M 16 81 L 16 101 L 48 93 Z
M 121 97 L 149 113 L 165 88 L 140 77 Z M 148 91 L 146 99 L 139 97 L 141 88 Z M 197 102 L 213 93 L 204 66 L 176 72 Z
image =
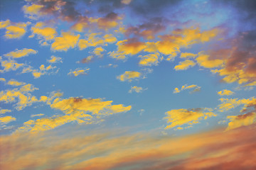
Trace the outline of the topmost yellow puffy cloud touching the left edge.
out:
M 1 21 L 0 28 L 5 28 L 5 38 L 13 39 L 13 38 L 21 38 L 26 33 L 26 27 L 31 24 L 27 23 L 13 23 L 9 20 Z

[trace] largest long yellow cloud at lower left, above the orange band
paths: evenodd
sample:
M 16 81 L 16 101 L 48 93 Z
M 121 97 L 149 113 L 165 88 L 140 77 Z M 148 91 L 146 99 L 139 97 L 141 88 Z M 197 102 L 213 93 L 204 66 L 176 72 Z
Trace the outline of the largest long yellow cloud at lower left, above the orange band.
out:
M 131 110 L 132 106 L 122 104 L 112 105 L 112 101 L 102 101 L 101 98 L 55 98 L 50 108 L 63 111 L 65 115 L 53 115 L 50 118 L 28 120 L 23 123 L 18 132 L 39 132 L 57 128 L 70 122 L 92 124 L 102 121 L 106 116 Z

